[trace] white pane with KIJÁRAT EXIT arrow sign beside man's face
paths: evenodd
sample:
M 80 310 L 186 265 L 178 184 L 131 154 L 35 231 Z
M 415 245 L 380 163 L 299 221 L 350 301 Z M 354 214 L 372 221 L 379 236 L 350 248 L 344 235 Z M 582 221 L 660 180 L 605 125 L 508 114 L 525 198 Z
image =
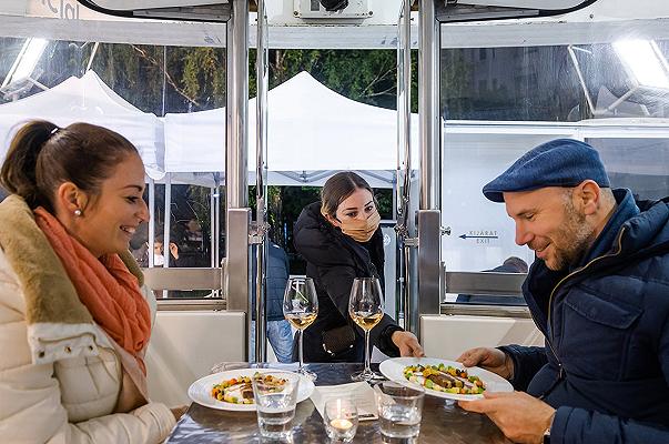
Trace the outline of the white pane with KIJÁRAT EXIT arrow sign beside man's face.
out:
M 504 205 L 489 202 L 482 189 L 524 152 L 558 134 L 449 131 L 447 125 L 442 188 L 444 226 L 450 226 L 450 235 L 442 240 L 442 259 L 447 270 L 493 271 L 513 256 L 530 264 L 534 254 L 516 245 L 514 222 Z

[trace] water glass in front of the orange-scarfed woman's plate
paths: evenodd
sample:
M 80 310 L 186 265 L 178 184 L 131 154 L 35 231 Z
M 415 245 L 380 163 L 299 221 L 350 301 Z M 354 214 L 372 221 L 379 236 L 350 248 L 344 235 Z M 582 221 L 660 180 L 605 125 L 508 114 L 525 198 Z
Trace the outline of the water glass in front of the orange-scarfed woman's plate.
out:
M 288 372 L 272 372 L 272 376 L 284 380 L 283 385 L 267 383 L 263 376 L 252 377 L 253 398 L 257 410 L 257 427 L 261 436 L 271 440 L 291 441 L 295 416 L 300 376 Z

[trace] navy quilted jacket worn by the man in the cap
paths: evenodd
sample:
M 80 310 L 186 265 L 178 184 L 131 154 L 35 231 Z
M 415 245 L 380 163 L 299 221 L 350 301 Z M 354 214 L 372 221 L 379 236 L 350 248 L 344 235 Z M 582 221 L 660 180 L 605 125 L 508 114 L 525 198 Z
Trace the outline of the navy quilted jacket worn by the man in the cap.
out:
M 531 266 L 523 291 L 545 347 L 500 347 L 517 390 L 557 408 L 551 443 L 669 443 L 669 199 L 618 209 L 582 263 Z

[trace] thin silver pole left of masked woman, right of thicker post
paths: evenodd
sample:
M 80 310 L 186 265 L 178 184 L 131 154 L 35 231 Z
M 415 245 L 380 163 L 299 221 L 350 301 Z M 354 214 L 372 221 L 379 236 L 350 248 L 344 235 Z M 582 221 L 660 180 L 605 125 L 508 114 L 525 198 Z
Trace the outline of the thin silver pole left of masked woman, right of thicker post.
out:
M 255 219 L 257 244 L 255 275 L 255 362 L 267 361 L 267 323 L 265 310 L 265 279 L 268 258 L 267 224 L 267 89 L 268 52 L 267 17 L 265 1 L 257 0 L 257 40 L 256 40 L 256 132 L 255 132 Z

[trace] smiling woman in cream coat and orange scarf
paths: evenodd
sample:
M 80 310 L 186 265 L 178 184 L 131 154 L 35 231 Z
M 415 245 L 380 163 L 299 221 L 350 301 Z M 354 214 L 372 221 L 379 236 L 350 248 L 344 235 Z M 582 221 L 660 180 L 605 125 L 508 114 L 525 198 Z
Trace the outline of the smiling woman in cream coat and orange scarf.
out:
M 149 219 L 136 149 L 33 121 L 0 183 L 1 441 L 163 442 L 182 410 L 146 396 L 155 300 L 128 251 Z

